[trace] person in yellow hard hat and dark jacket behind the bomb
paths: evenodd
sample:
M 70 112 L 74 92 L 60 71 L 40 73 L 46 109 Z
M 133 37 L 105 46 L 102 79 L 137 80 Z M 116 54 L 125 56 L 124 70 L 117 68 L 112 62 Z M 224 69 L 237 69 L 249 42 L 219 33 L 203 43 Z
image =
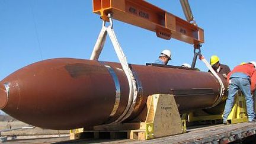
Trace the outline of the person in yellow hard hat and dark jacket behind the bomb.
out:
M 210 65 L 216 73 L 220 73 L 224 78 L 227 77 L 228 73 L 231 72 L 229 66 L 220 64 L 219 57 L 216 55 L 211 56 Z M 209 71 L 210 72 L 210 71 Z

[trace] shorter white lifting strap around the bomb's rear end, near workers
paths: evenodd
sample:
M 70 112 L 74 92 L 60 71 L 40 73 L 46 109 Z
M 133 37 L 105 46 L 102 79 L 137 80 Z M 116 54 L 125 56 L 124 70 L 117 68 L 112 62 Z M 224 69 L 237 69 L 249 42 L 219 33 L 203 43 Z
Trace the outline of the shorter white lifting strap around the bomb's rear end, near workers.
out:
M 222 97 L 224 95 L 224 91 L 225 91 L 225 87 L 223 85 L 222 80 L 220 79 L 219 75 L 217 75 L 217 73 L 214 71 L 214 69 L 212 68 L 212 66 L 210 65 L 209 62 L 207 62 L 207 60 L 204 58 L 204 56 L 200 56 L 199 59 L 204 62 L 204 64 L 207 66 L 207 68 L 210 70 L 210 72 L 213 73 L 213 75 L 217 78 L 217 80 L 219 81 L 220 84 L 220 96 L 219 98 L 215 101 L 215 103 L 212 105 L 212 107 L 215 107 L 217 104 L 220 103 L 220 101 L 222 101 Z M 211 108 L 211 107 L 209 107 Z

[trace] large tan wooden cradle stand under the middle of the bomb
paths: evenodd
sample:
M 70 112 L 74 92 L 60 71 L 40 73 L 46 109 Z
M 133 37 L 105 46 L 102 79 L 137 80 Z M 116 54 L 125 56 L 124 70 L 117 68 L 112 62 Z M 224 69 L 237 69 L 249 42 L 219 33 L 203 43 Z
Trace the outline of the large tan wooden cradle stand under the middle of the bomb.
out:
M 153 139 L 186 132 L 185 120 L 181 120 L 178 107 L 173 95 L 155 94 L 148 97 L 148 114 L 145 122 L 119 123 L 94 126 L 92 130 L 70 130 L 70 139 L 80 139 L 82 136 L 101 138 L 100 135 L 109 135 L 110 139 Z M 108 134 L 107 134 L 108 133 Z

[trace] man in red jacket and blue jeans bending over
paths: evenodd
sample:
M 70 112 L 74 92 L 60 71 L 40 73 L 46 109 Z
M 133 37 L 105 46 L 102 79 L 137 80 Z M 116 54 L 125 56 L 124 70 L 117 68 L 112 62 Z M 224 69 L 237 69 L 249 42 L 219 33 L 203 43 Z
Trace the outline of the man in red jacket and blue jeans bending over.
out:
M 238 90 L 241 90 L 245 95 L 246 105 L 247 105 L 247 115 L 248 121 L 254 122 L 255 112 L 254 112 L 254 101 L 252 99 L 252 94 L 255 91 L 256 84 L 256 62 L 248 62 L 244 65 L 236 66 L 233 71 L 228 73 L 229 82 L 229 94 L 226 100 L 225 110 L 223 113 L 223 123 L 226 124 L 229 113 L 231 113 L 233 107 L 233 101 Z

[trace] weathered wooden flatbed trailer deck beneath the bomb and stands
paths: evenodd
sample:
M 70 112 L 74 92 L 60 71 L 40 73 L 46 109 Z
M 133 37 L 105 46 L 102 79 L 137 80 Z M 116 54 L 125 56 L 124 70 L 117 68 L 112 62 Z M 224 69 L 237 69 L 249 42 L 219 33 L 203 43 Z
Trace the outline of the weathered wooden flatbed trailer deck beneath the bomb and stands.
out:
M 215 124 L 188 127 L 187 133 L 151 140 L 131 139 L 79 139 L 68 137 L 33 140 L 8 140 L 7 143 L 230 143 L 256 142 L 256 123 Z M 255 140 L 254 140 L 255 139 Z M 251 140 L 251 141 L 249 141 Z

